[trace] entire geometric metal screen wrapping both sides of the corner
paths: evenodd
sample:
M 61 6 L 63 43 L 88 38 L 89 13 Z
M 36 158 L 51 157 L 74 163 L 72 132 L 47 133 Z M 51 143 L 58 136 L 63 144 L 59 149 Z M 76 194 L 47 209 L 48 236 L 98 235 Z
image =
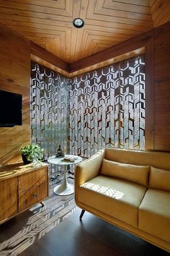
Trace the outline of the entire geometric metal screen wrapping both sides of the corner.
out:
M 144 70 L 142 55 L 69 80 L 32 62 L 32 142 L 45 158 L 58 145 L 84 158 L 106 146 L 144 150 Z

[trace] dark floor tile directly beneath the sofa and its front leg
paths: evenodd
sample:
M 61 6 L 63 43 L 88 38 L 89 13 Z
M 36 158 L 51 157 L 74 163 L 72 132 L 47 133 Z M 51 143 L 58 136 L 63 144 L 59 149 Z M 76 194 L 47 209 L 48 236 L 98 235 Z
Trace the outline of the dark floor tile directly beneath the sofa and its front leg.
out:
M 111 244 L 118 251 L 126 256 L 168 256 L 169 253 L 153 244 L 114 226 L 107 221 L 103 221 L 91 213 L 84 213 L 82 220 L 79 220 L 81 210 L 73 213 L 68 219 L 75 225 L 81 226 L 87 232 L 94 234 L 97 238 Z

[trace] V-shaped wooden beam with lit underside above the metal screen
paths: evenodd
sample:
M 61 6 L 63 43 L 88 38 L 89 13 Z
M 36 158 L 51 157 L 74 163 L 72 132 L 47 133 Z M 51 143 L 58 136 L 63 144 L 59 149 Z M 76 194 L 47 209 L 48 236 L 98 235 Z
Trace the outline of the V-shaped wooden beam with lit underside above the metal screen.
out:
M 90 72 L 91 70 L 113 64 L 117 61 L 143 54 L 146 44 L 153 37 L 153 33 L 154 29 L 140 34 L 135 38 L 125 40 L 122 43 L 117 43 L 115 46 L 98 51 L 96 54 L 92 54 L 72 64 L 68 64 L 66 61 L 63 61 L 45 50 L 45 48 L 31 41 L 31 59 L 66 77 L 74 77 L 78 74 Z

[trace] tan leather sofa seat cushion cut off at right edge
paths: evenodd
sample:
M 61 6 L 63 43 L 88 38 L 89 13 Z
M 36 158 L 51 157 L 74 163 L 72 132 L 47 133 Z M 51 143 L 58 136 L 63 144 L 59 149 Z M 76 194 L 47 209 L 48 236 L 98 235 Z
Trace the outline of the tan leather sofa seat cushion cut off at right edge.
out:
M 170 193 L 148 189 L 139 208 L 138 228 L 170 242 Z

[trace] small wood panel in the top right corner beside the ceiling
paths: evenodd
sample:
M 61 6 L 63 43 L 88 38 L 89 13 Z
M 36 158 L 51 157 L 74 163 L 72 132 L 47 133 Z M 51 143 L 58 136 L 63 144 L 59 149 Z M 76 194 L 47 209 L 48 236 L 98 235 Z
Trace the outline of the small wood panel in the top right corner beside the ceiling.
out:
M 170 21 L 169 0 L 150 0 L 150 6 L 154 27 Z

